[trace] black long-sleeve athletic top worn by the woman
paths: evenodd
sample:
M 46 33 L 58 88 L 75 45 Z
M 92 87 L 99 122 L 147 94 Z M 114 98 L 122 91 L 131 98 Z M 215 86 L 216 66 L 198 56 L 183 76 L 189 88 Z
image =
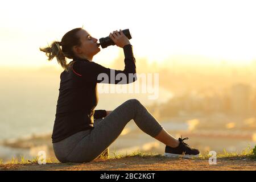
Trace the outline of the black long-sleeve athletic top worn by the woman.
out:
M 128 84 L 137 80 L 134 74 L 136 66 L 133 46 L 128 44 L 123 47 L 123 51 L 125 54 L 123 71 L 105 68 L 86 59 L 75 58 L 71 71 L 61 73 L 52 143 L 59 142 L 79 131 L 93 129 L 93 120 L 106 116 L 106 110 L 94 110 L 98 104 L 97 83 Z M 104 74 L 99 76 L 100 73 Z M 120 81 L 119 78 L 115 78 L 118 73 L 123 73 L 127 79 Z M 134 76 L 128 79 L 131 73 Z M 108 76 L 109 79 L 105 79 L 104 76 Z

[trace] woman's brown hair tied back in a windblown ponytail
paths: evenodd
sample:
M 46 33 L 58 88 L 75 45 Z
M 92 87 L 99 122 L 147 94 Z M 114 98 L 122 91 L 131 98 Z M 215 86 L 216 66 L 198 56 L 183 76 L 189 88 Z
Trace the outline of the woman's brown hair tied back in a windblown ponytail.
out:
M 68 31 L 61 39 L 61 42 L 54 41 L 51 46 L 48 44 L 48 47 L 40 48 L 40 51 L 46 52 L 46 56 L 49 61 L 56 57 L 61 67 L 68 72 L 74 62 L 67 64 L 65 57 L 68 57 L 69 59 L 73 59 L 75 57 L 75 53 L 72 48 L 73 46 L 81 45 L 80 38 L 77 36 L 77 32 L 80 30 L 82 30 L 82 28 L 75 28 Z

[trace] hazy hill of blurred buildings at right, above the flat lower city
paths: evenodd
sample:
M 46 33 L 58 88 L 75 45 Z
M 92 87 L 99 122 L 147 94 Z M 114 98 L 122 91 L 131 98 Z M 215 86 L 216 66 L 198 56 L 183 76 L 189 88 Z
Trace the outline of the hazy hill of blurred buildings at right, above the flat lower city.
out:
M 223 93 L 212 88 L 193 90 L 174 96 L 164 104 L 151 105 L 161 118 L 186 115 L 255 115 L 256 90 L 249 84 L 234 84 Z

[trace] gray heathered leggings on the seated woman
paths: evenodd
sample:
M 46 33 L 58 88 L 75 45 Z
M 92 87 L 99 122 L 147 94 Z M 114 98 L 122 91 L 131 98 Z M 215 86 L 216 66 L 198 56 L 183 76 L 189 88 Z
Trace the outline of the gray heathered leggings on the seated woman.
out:
M 131 119 L 151 137 L 156 137 L 163 128 L 141 102 L 131 99 L 118 106 L 104 119 L 96 119 L 93 129 L 80 131 L 53 143 L 56 158 L 63 163 L 82 163 L 96 159 L 117 139 Z

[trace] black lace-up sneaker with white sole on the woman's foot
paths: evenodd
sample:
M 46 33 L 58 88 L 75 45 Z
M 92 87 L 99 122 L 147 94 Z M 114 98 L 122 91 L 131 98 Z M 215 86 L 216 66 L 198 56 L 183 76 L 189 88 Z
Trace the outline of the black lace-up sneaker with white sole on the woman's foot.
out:
M 184 139 L 182 139 L 182 137 L 179 138 L 180 144 L 175 148 L 166 146 L 166 150 L 164 151 L 164 156 L 169 158 L 179 157 L 179 156 L 181 156 L 181 158 L 192 158 L 192 157 L 198 158 L 200 155 L 199 150 L 195 148 L 190 148 L 187 143 L 183 142 L 183 140 L 187 140 L 187 139 L 188 137 Z

